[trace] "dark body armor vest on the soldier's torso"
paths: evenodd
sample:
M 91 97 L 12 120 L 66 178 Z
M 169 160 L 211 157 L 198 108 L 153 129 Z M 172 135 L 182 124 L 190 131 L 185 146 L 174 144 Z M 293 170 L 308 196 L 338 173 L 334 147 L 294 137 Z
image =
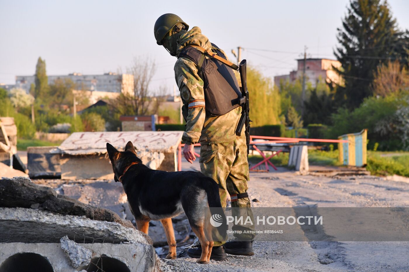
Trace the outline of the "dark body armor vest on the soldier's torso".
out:
M 211 45 L 213 52 L 227 59 L 216 45 L 213 43 Z M 215 58 L 205 58 L 202 52 L 191 46 L 180 52 L 178 58 L 181 57 L 193 61 L 198 66 L 198 74 L 204 83 L 206 111 L 220 116 L 240 106 L 239 100 L 242 95 L 233 69 Z

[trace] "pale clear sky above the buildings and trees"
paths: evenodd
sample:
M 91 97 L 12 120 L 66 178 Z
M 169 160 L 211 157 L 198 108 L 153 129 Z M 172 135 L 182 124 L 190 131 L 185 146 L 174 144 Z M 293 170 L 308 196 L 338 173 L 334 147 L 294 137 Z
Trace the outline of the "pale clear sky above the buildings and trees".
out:
M 164 13 L 200 27 L 231 60 L 231 49 L 243 47 L 242 59 L 273 79 L 296 69 L 304 46 L 310 57 L 334 58 L 348 2 L 0 0 L 0 83 L 33 75 L 39 56 L 49 75 L 126 71 L 139 57 L 156 64 L 151 90 L 163 86 L 171 94 L 176 58 L 153 35 L 155 21 Z M 399 27 L 409 29 L 409 1 L 388 3 Z

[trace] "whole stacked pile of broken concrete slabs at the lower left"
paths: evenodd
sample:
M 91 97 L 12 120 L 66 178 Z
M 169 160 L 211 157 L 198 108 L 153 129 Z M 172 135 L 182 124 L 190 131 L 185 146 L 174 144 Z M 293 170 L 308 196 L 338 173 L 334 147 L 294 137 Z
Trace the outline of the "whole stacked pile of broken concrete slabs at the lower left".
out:
M 160 269 L 152 240 L 130 221 L 28 178 L 0 181 L 0 230 L 0 271 L 31 261 L 52 267 L 41 271 Z

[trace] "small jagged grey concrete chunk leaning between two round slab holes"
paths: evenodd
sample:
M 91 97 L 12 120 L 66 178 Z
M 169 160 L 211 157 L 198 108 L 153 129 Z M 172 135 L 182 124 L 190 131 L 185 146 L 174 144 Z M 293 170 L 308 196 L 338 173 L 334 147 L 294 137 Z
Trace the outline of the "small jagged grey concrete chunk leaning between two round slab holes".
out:
M 74 268 L 79 268 L 81 265 L 90 263 L 92 258 L 92 250 L 82 247 L 78 243 L 68 239 L 65 235 L 60 239 L 61 249 L 67 254 L 68 259 L 71 261 L 71 265 Z

